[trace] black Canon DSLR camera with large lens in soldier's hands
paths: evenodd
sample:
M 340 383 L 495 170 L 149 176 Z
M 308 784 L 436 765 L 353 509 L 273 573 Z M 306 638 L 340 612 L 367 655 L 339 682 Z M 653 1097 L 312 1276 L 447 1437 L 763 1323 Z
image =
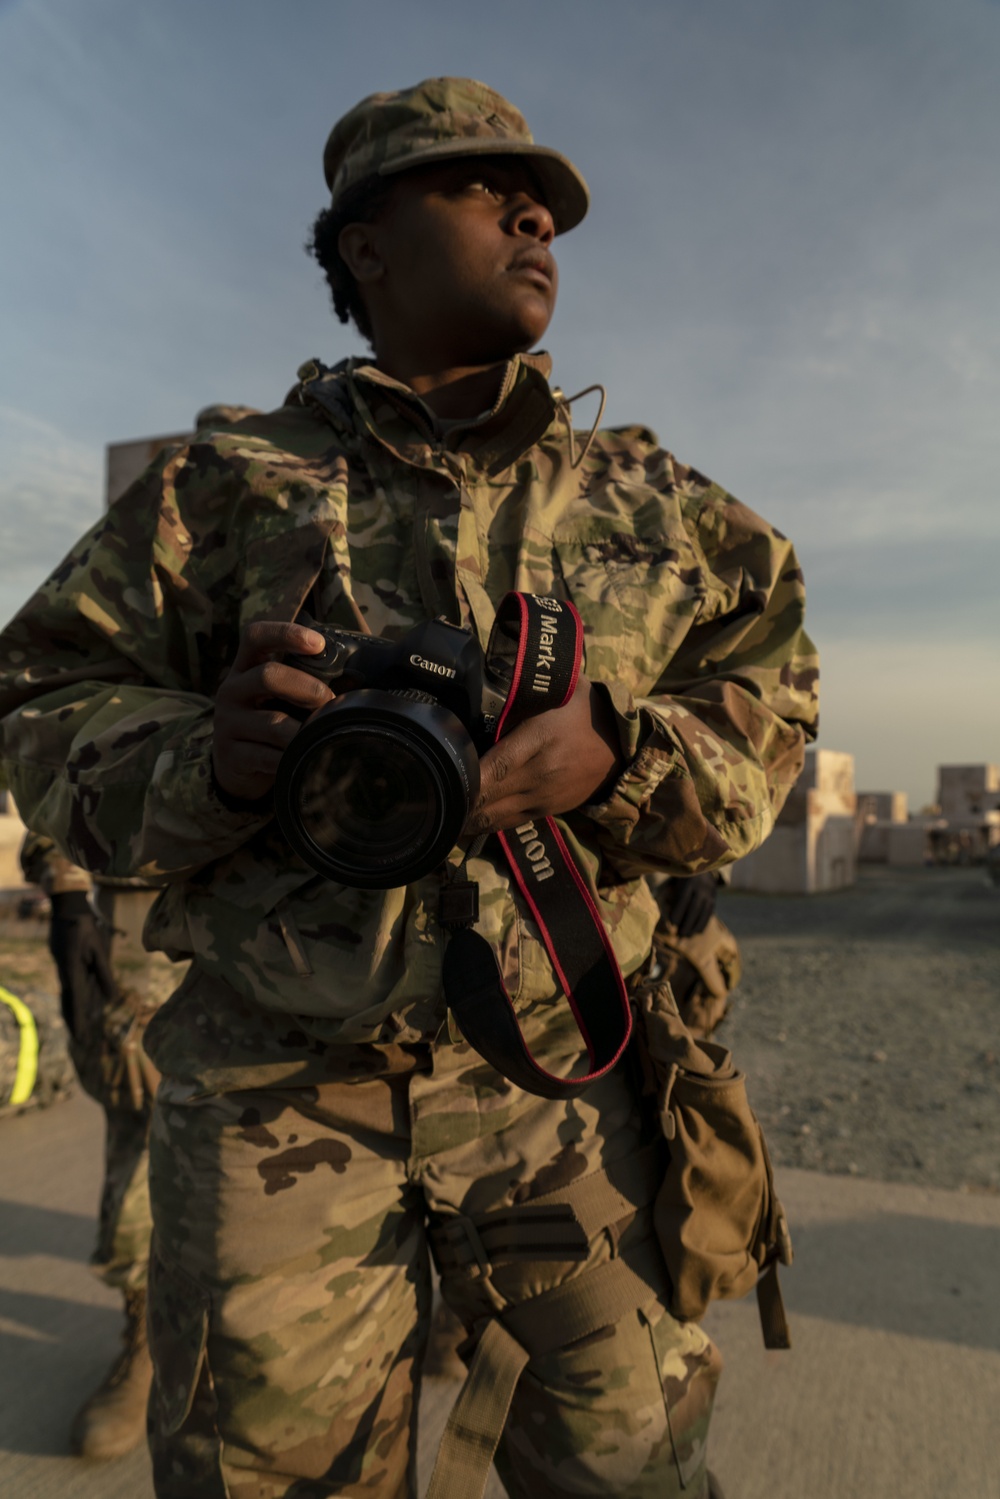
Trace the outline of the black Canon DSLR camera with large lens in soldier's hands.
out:
M 358 889 L 409 884 L 457 842 L 505 684 L 478 640 L 442 619 L 400 640 L 300 616 L 325 640 L 286 664 L 337 694 L 303 724 L 274 781 L 277 823 L 310 868 Z

